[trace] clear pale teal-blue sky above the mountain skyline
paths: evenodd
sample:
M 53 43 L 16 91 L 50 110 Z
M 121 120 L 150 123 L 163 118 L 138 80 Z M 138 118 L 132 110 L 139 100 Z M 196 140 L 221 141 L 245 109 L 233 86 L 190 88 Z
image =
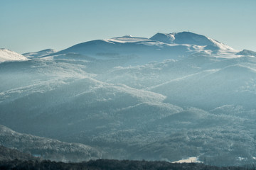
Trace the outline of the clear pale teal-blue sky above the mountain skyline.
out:
M 255 0 L 0 0 L 0 47 L 19 53 L 189 30 L 256 51 Z

